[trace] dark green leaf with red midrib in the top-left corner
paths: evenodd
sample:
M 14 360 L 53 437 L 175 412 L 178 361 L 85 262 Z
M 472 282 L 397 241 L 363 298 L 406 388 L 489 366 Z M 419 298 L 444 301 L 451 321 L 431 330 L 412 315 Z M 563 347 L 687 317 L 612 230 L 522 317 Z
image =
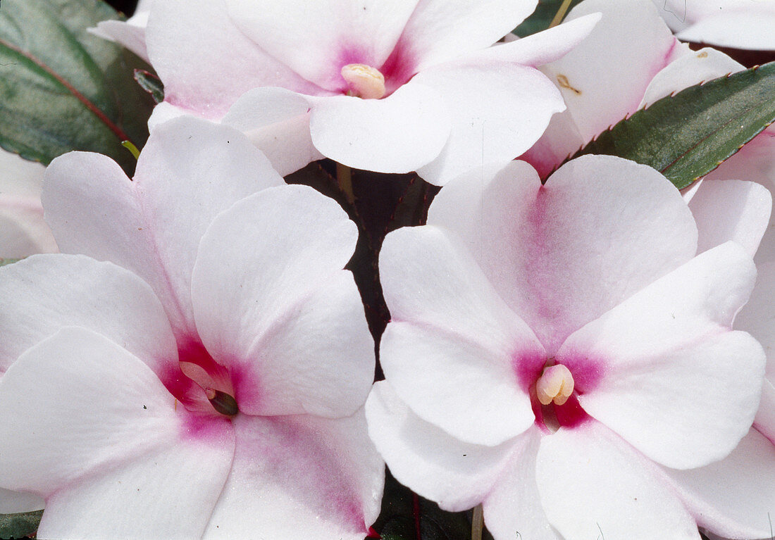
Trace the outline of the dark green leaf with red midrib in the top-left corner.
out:
M 133 80 L 148 66 L 87 32 L 117 18 L 101 0 L 3 0 L 0 146 L 44 164 L 90 150 L 134 170 L 121 143 L 142 148 L 148 137 L 153 99 Z

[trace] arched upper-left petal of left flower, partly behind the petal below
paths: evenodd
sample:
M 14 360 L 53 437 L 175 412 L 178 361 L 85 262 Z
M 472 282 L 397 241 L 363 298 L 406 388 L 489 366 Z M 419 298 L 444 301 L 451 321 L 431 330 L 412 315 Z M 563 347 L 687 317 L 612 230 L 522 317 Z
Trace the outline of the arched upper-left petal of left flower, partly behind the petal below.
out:
M 121 343 L 158 375 L 177 366 L 164 309 L 128 270 L 81 255 L 36 255 L 0 268 L 0 373 L 64 326 Z

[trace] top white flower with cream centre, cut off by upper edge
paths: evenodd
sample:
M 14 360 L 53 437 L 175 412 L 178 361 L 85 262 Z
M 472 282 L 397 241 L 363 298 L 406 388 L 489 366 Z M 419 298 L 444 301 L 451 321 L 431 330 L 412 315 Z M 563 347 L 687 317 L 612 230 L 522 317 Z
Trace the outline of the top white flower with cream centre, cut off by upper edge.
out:
M 434 184 L 513 159 L 563 110 L 534 66 L 593 16 L 491 46 L 536 0 L 165 0 L 146 44 L 164 82 L 155 118 L 194 114 L 246 132 L 287 174 L 327 156 Z M 117 36 L 120 39 L 120 36 Z

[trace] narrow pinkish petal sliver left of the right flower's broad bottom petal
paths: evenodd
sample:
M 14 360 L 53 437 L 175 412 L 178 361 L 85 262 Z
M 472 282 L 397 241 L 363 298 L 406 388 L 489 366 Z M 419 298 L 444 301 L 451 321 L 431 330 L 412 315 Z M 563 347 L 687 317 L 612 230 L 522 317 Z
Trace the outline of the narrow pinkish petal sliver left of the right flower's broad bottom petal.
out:
M 536 427 L 520 435 L 518 451 L 482 504 L 484 524 L 495 538 L 559 540 L 549 525 L 536 483 L 536 457 L 541 435 Z

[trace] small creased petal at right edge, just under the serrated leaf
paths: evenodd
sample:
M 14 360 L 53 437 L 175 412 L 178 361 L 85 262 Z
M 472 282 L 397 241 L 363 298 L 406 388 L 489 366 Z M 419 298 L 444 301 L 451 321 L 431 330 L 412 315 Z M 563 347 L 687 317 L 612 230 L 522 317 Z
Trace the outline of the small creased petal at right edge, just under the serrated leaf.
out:
M 689 202 L 699 230 L 698 253 L 728 240 L 754 256 L 770 222 L 772 196 L 766 187 L 745 181 L 704 181 Z

